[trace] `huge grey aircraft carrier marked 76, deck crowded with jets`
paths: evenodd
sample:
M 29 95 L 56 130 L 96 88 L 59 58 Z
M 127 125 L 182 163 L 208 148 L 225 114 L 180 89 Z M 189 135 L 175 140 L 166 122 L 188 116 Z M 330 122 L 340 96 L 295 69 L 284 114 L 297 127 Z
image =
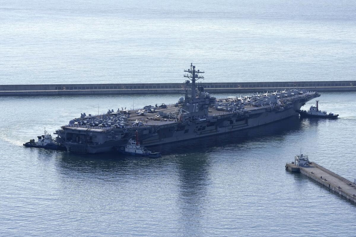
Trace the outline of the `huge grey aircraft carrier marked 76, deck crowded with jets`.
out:
M 318 92 L 283 90 L 216 99 L 197 83 L 204 78 L 204 71 L 191 64 L 184 72 L 185 96 L 175 104 L 111 109 L 98 115 L 83 113 L 56 131 L 56 142 L 70 152 L 99 153 L 120 150 L 136 131 L 143 146 L 196 139 L 298 115 L 307 101 L 320 96 Z

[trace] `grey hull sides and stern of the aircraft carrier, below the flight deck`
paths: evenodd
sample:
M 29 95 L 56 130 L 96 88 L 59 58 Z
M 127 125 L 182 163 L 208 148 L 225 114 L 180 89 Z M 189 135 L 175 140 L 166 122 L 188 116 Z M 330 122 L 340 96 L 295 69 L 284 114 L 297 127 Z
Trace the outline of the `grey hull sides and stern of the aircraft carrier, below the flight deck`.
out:
M 310 99 L 320 96 L 318 93 L 286 99 L 284 106 L 245 107 L 236 112 L 224 112 L 211 109 L 204 119 L 188 122 L 156 122 L 150 121 L 141 126 L 126 128 L 99 128 L 91 126 L 63 126 L 59 135 L 64 138 L 62 144 L 68 151 L 75 153 L 100 153 L 118 150 L 125 146 L 137 130 L 143 146 L 160 145 L 188 139 L 198 139 L 216 134 L 229 133 L 256 126 L 277 122 L 292 116 L 298 116 L 300 108 Z M 173 111 L 174 106 L 162 111 Z M 137 119 L 133 115 L 132 120 Z

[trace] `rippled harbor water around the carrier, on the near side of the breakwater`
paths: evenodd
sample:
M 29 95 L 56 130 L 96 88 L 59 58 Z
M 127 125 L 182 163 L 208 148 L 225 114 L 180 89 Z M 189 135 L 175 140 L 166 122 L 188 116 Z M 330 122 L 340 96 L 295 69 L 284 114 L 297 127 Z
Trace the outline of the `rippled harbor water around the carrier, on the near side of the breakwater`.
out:
M 135 104 L 178 96 L 137 96 Z M 132 96 L 2 97 L 0 236 L 353 236 L 354 204 L 284 168 L 302 147 L 356 178 L 356 93 L 319 99 L 340 118 L 290 118 L 156 146 L 163 156 L 148 159 L 22 146 L 43 126 L 53 132 L 98 104 L 100 112 L 130 107 Z

